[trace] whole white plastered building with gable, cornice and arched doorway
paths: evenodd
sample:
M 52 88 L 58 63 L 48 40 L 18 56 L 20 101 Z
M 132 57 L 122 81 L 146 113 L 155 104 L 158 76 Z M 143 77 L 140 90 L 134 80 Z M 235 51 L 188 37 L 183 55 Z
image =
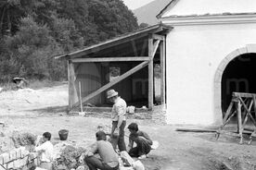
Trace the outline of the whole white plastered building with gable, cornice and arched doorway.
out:
M 170 124 L 219 124 L 232 91 L 256 92 L 256 1 L 173 0 L 166 38 Z

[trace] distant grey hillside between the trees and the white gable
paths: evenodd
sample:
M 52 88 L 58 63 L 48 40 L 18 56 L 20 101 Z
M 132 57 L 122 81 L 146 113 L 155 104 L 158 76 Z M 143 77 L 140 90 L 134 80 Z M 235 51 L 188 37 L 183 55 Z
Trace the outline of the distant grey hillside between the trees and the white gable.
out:
M 156 16 L 167 6 L 171 0 L 155 0 L 145 6 L 134 9 L 134 16 L 138 19 L 138 24 L 144 22 L 149 25 L 158 23 Z

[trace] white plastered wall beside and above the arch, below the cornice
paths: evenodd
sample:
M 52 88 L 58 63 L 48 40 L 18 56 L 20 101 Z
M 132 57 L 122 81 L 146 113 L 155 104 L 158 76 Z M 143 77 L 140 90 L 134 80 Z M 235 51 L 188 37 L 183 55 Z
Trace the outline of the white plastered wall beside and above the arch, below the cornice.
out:
M 221 84 L 214 79 L 232 52 L 253 43 L 256 23 L 175 26 L 166 42 L 167 122 L 222 123 Z

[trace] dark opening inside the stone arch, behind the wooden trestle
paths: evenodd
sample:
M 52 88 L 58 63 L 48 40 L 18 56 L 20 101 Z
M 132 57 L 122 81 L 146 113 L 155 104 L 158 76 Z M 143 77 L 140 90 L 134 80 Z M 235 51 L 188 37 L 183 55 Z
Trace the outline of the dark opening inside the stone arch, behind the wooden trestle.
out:
M 232 92 L 256 93 L 256 54 L 238 55 L 224 69 L 222 77 L 222 111 L 225 113 Z

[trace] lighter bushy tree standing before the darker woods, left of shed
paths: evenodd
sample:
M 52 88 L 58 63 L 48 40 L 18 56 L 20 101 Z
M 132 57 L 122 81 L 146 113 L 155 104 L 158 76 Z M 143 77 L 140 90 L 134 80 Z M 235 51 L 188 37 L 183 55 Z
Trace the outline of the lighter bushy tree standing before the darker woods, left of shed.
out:
M 21 18 L 16 35 L 6 37 L 6 47 L 18 63 L 17 75 L 37 79 L 51 79 L 52 56 L 63 53 L 47 26 L 37 24 L 32 17 Z M 60 72 L 63 75 L 63 69 Z

